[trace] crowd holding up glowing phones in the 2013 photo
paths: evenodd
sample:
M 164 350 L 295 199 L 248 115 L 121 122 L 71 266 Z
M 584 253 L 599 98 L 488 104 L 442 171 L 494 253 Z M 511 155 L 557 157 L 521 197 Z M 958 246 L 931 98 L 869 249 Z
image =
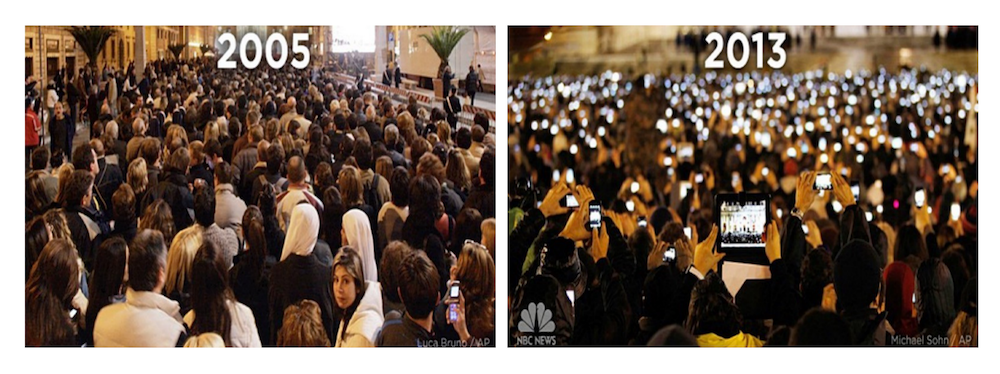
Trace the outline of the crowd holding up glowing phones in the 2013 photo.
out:
M 977 79 L 508 82 L 510 344 L 977 346 Z M 713 207 L 740 192 L 771 223 L 737 256 Z M 730 288 L 727 262 L 770 275 Z

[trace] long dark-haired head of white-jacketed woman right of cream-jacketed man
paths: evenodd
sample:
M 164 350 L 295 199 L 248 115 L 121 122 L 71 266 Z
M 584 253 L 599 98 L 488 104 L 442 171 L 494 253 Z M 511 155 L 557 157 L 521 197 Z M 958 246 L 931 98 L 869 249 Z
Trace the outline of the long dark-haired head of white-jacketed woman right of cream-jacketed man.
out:
M 229 290 L 229 271 L 221 249 L 203 241 L 192 260 L 190 276 L 191 310 L 198 317 L 191 324 L 191 333 L 214 332 L 228 341 L 232 317 L 226 302 L 234 297 Z

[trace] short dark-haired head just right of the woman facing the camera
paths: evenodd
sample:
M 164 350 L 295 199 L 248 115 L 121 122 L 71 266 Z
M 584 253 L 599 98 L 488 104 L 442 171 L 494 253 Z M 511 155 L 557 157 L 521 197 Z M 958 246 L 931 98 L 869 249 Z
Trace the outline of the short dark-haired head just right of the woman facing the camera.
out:
M 440 277 L 427 255 L 423 251 L 410 252 L 403 258 L 396 280 L 406 314 L 414 319 L 430 316 L 437 306 Z

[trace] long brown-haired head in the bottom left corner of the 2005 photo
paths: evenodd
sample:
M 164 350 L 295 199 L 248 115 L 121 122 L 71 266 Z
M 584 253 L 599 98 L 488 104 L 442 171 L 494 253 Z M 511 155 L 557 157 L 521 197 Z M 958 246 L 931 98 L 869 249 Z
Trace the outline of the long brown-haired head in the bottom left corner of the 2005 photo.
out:
M 80 266 L 73 243 L 50 241 L 31 268 L 25 295 L 25 345 L 69 345 L 74 329 L 66 318 L 80 288 Z

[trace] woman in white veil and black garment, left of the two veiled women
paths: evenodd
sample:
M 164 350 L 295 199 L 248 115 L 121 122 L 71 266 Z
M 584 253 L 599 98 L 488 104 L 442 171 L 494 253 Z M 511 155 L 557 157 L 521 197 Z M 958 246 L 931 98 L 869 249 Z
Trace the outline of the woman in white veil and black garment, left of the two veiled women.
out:
M 319 304 L 323 328 L 330 340 L 336 322 L 333 319 L 333 293 L 330 289 L 330 264 L 319 256 L 322 248 L 317 247 L 319 235 L 319 213 L 308 203 L 300 203 L 292 209 L 285 234 L 285 244 L 281 249 L 281 259 L 271 269 L 271 285 L 268 303 L 271 319 L 271 333 L 265 345 L 274 344 L 281 330 L 285 308 L 300 300 L 308 299 Z M 329 256 L 329 248 L 326 248 Z M 264 337 L 261 337 L 264 339 Z

